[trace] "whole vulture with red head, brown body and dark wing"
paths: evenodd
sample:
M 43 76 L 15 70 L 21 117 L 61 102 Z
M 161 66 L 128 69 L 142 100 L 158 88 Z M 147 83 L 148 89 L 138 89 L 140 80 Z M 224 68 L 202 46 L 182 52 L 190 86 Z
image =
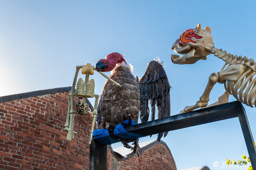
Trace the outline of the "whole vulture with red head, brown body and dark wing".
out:
M 110 72 L 111 79 L 118 82 L 118 87 L 106 81 L 98 106 L 98 128 L 113 129 L 124 120 L 134 120 L 138 123 L 140 113 L 141 122 L 148 121 L 150 100 L 152 120 L 155 120 L 155 105 L 157 105 L 158 118 L 170 116 L 170 84 L 163 65 L 158 61 L 148 63 L 147 70 L 139 80 L 132 75 L 132 66 L 126 63 L 124 56 L 118 52 L 108 54 L 105 59 L 100 59 L 96 64 L 100 72 Z M 130 121 L 131 122 L 131 121 Z M 123 124 L 124 125 L 124 124 Z M 158 134 L 160 141 L 168 132 Z M 133 145 L 129 146 L 129 142 Z M 136 155 L 141 155 L 138 139 L 121 139 L 126 148 L 131 148 Z

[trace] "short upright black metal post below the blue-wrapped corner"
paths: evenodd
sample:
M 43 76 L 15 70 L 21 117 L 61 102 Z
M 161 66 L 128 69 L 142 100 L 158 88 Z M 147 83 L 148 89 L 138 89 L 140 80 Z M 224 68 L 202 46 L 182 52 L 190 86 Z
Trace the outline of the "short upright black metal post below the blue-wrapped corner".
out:
M 93 169 L 108 169 L 107 145 L 103 145 L 94 139 L 90 145 L 90 170 Z

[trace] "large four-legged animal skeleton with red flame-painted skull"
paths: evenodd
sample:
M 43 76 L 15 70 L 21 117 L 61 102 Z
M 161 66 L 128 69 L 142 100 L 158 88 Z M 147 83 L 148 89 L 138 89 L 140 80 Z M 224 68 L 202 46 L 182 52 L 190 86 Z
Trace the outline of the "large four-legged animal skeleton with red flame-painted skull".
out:
M 254 59 L 246 56 L 234 56 L 222 49 L 216 49 L 212 42 L 211 28 L 202 29 L 198 24 L 195 29 L 188 29 L 180 35 L 180 38 L 173 43 L 175 52 L 184 54 L 179 57 L 172 55 L 172 62 L 175 64 L 193 64 L 199 59 L 206 59 L 207 55 L 214 54 L 225 61 L 220 72 L 212 73 L 205 88 L 203 95 L 195 105 L 186 106 L 182 112 L 193 111 L 200 107 L 206 107 L 209 102 L 210 92 L 217 82 L 224 83 L 225 92 L 218 98 L 218 102 L 212 105 L 225 104 L 228 102 L 229 95 L 233 95 L 243 104 L 253 107 L 256 105 L 256 63 Z M 212 105 L 208 105 L 212 106 Z

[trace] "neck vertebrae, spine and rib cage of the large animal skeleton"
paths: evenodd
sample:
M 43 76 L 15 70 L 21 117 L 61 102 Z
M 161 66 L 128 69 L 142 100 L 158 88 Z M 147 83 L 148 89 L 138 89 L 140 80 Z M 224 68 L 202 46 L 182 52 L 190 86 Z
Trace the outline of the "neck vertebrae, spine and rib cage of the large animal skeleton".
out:
M 221 72 L 232 65 L 244 65 L 245 69 L 237 81 L 225 81 L 224 86 L 226 91 L 233 95 L 239 102 L 250 107 L 256 107 L 256 63 L 254 59 L 248 59 L 246 56 L 234 56 L 222 49 L 212 48 L 211 53 L 225 61 L 225 65 Z

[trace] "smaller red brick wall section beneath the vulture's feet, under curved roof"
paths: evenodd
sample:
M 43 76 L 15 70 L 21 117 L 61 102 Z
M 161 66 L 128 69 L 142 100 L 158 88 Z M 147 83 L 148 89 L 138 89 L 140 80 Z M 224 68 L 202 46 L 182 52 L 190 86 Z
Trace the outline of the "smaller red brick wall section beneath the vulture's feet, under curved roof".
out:
M 118 164 L 118 165 L 117 165 Z M 116 168 L 118 166 L 118 168 Z M 108 169 L 177 169 L 173 157 L 162 143 L 158 143 L 143 151 L 139 158 L 134 156 L 117 162 L 108 148 Z

